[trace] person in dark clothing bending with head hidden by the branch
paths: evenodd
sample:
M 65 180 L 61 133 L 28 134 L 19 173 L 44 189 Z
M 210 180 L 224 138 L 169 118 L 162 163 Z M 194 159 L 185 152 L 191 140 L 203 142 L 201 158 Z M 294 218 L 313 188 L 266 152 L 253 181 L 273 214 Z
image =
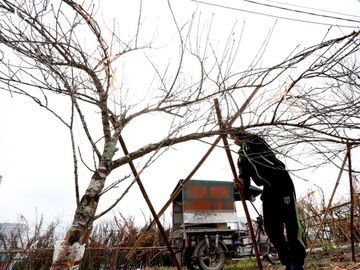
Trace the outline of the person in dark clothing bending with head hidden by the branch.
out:
M 244 194 L 250 186 L 250 178 L 256 185 L 263 186 L 264 227 L 281 263 L 286 270 L 302 270 L 306 251 L 297 215 L 294 184 L 284 163 L 255 134 L 242 131 L 231 134 L 231 138 L 240 146 L 238 168 Z

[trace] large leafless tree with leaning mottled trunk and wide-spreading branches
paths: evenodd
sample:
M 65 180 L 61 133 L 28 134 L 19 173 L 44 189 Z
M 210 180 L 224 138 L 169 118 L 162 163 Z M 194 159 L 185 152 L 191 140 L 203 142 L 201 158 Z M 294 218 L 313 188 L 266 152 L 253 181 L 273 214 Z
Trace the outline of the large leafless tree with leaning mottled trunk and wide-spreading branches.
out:
M 260 66 L 265 42 L 257 58 L 240 71 L 234 64 L 239 37 L 232 40 L 231 35 L 218 54 L 209 36 L 200 33 L 211 28 L 200 31 L 201 21 L 194 18 L 179 25 L 169 3 L 177 55 L 163 68 L 149 56 L 152 44 L 141 43 L 141 6 L 128 41 L 116 27 L 101 28 L 94 7 L 73 0 L 0 3 L 0 89 L 28 97 L 69 130 L 76 187 L 79 159 L 86 155 L 85 149 L 78 151 L 76 122 L 93 153 L 92 165 L 83 161 L 92 177 L 84 194 L 76 188 L 76 213 L 53 269 L 71 269 L 77 263 L 69 250 L 87 242 L 94 220 L 102 215 L 97 213 L 101 196 L 119 184 L 106 183 L 112 172 L 147 157 L 142 172 L 174 144 L 236 130 L 218 129 L 214 98 L 225 122 L 239 114 L 238 127 L 261 133 L 284 155 L 301 146 L 302 155 L 319 154 L 329 162 L 344 144 L 359 143 L 358 32 L 295 51 L 272 67 Z M 116 67 L 139 51 L 147 52 L 142 56 L 153 67 L 154 83 L 136 91 L 127 88 Z M 147 114 L 165 116 L 167 133 L 121 155 L 123 131 Z

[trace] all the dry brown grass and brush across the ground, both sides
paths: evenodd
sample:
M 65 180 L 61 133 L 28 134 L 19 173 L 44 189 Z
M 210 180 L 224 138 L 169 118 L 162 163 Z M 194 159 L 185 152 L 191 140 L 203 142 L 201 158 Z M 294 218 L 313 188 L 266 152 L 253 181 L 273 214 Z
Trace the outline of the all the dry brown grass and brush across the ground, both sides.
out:
M 360 242 L 360 188 L 355 185 L 354 226 L 355 241 Z M 303 217 L 306 242 L 312 244 L 315 232 L 324 218 L 326 202 L 321 190 L 309 192 L 299 199 L 299 212 Z M 316 195 L 316 196 L 315 196 Z M 315 198 L 317 198 L 315 200 Z M 320 198 L 320 199 L 319 199 Z M 323 222 L 320 234 L 315 240 L 314 247 L 322 248 L 322 252 L 312 252 L 308 256 L 306 269 L 330 269 L 330 270 L 354 270 L 360 269 L 360 265 L 352 262 L 351 250 L 338 250 L 334 245 L 350 243 L 349 216 L 350 203 L 348 200 L 333 203 L 333 207 Z M 3 256 L 2 264 L 14 266 L 14 270 L 20 269 L 48 269 L 51 264 L 53 244 L 60 239 L 60 221 L 56 220 L 45 226 L 43 219 L 39 218 L 35 224 L 29 224 L 25 218 L 21 218 L 22 224 L 18 230 L 9 235 L 0 234 L 0 256 Z M 147 224 L 138 227 L 133 218 L 114 216 L 108 221 L 97 224 L 92 231 L 87 244 L 81 269 L 120 269 L 124 258 L 135 241 L 145 231 Z M 146 232 L 140 249 L 136 251 L 129 267 L 138 268 L 145 265 L 154 267 L 171 265 L 167 256 L 166 248 L 159 230 L 155 227 Z M 359 248 L 357 254 L 360 253 Z M 359 258 L 357 257 L 357 260 Z M 226 268 L 237 267 L 229 264 Z M 242 269 L 256 269 L 255 266 L 242 265 Z M 281 269 L 279 266 L 266 265 L 264 269 Z

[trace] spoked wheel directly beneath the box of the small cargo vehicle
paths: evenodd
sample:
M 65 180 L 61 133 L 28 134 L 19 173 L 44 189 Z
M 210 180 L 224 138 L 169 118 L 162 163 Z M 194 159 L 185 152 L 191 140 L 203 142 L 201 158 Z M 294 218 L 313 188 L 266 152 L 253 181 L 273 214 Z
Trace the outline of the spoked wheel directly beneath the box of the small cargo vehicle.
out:
M 205 241 L 199 243 L 198 264 L 202 270 L 221 270 L 225 264 L 224 247 L 218 243 L 215 246 L 214 241 L 210 241 L 208 246 Z M 195 248 L 196 250 L 196 248 Z

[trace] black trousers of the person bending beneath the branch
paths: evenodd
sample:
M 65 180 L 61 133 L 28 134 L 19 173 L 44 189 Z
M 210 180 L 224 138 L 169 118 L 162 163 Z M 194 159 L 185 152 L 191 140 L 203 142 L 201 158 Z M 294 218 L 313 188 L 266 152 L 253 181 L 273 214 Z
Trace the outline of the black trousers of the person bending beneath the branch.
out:
M 303 265 L 306 256 L 295 204 L 295 194 L 263 197 L 264 228 L 284 265 Z

